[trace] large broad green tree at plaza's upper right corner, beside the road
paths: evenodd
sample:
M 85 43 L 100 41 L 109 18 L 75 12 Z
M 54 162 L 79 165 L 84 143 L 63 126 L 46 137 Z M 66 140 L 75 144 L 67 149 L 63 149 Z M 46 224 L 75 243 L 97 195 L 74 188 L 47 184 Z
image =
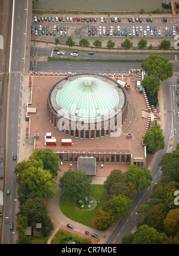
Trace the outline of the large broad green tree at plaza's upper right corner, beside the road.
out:
M 148 76 L 157 76 L 161 81 L 172 77 L 174 65 L 162 56 L 150 54 L 141 64 Z

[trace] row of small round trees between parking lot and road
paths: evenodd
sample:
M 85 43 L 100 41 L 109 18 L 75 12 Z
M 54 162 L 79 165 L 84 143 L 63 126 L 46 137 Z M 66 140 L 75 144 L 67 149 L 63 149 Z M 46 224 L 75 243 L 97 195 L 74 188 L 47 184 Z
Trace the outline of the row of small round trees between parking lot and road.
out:
M 55 38 L 55 45 L 57 46 L 57 44 L 59 44 L 59 43 L 60 43 L 60 40 L 58 38 Z M 76 42 L 72 39 L 72 37 L 68 37 L 65 43 L 67 46 L 69 46 L 69 48 L 75 47 L 75 45 L 76 45 Z M 93 44 L 93 46 L 95 46 L 97 48 L 102 47 L 102 41 L 99 39 L 96 39 L 92 44 Z M 115 48 L 115 44 L 116 44 L 115 41 L 108 40 L 106 47 L 110 51 L 110 49 Z M 81 40 L 79 40 L 78 45 L 81 47 L 84 47 L 84 46 L 88 47 L 88 46 L 90 46 L 90 41 L 88 41 L 87 38 L 81 38 Z M 121 47 L 124 48 L 126 51 L 130 50 L 132 48 L 132 46 L 133 46 L 133 43 L 128 38 L 126 38 L 126 40 L 121 43 Z M 142 38 L 137 43 L 137 46 L 138 46 L 138 49 L 140 49 L 140 50 L 146 48 L 147 40 Z M 166 39 L 162 40 L 161 43 L 159 44 L 159 49 L 163 50 L 163 52 L 165 50 L 168 50 L 169 47 L 171 47 L 171 43 L 169 40 L 166 40 Z M 152 50 L 152 48 L 153 48 L 153 46 L 152 46 L 152 44 L 150 44 L 149 50 Z

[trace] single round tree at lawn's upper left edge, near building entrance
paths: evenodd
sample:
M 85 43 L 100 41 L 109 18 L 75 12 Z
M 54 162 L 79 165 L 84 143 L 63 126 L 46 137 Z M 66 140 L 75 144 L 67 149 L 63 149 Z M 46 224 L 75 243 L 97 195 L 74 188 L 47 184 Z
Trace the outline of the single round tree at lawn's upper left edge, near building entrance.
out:
M 77 199 L 82 195 L 89 195 L 91 191 L 91 180 L 86 173 L 76 170 L 67 170 L 59 179 L 59 188 L 66 192 L 68 197 Z

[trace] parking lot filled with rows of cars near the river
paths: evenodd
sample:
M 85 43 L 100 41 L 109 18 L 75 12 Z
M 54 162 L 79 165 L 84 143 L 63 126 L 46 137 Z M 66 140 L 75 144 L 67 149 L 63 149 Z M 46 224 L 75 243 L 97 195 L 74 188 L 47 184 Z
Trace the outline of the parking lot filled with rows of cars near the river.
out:
M 76 42 L 81 38 L 89 41 L 117 38 L 147 40 L 174 40 L 179 34 L 178 17 L 32 17 L 31 36 L 33 40 L 53 41 L 58 37 L 60 43 L 65 43 L 71 36 Z

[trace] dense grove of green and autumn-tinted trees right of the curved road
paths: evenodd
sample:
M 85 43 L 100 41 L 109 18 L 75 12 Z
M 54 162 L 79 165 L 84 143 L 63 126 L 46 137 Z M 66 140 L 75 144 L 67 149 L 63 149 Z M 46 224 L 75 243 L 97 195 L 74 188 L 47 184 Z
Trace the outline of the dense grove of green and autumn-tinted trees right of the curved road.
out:
M 162 179 L 153 186 L 150 199 L 137 210 L 138 230 L 122 238 L 122 243 L 179 243 L 179 143 L 161 162 Z

